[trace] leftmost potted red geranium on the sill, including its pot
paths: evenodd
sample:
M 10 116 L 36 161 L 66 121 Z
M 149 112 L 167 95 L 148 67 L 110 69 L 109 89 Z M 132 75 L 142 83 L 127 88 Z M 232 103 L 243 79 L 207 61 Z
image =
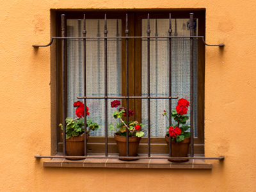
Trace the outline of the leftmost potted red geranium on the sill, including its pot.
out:
M 83 102 L 74 102 L 74 108 L 76 108 L 77 118 L 66 118 L 66 150 L 67 156 L 84 156 L 84 104 Z M 86 116 L 88 116 L 89 108 L 86 106 Z M 61 130 L 63 125 L 60 124 Z M 89 127 L 86 131 L 86 141 L 90 136 L 90 131 L 95 131 L 100 126 L 92 122 L 91 119 L 86 120 L 86 127 Z M 70 159 L 70 158 L 67 158 Z M 72 159 L 73 160 L 73 159 Z

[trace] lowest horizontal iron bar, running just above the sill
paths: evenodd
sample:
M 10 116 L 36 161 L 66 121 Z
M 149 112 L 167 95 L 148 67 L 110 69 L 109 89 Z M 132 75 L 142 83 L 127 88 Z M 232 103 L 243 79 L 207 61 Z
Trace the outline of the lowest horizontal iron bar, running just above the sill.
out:
M 37 155 L 35 158 L 72 158 L 72 159 L 81 159 L 81 158 L 86 158 L 86 159 L 169 159 L 170 157 L 168 156 L 154 156 L 154 157 L 106 157 L 106 156 L 40 156 Z M 220 156 L 220 157 L 172 157 L 172 159 L 217 159 L 217 160 L 223 160 L 225 157 Z

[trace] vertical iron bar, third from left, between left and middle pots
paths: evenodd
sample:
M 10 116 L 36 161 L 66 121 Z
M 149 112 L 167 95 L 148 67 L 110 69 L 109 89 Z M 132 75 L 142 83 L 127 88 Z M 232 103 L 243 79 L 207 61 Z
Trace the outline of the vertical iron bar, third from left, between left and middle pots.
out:
M 107 15 L 104 18 L 104 36 L 108 34 Z M 105 97 L 108 97 L 108 52 L 107 38 L 104 38 Z M 108 156 L 108 99 L 105 98 L 105 156 Z

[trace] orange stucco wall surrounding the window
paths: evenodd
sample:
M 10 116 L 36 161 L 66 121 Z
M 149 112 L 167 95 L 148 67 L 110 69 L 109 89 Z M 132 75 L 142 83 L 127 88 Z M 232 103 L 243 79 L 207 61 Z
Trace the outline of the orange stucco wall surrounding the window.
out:
M 256 191 L 256 1 L 2 0 L 0 191 Z M 44 168 L 51 152 L 51 9 L 205 8 L 205 156 L 212 170 Z M 125 180 L 127 179 L 125 184 Z

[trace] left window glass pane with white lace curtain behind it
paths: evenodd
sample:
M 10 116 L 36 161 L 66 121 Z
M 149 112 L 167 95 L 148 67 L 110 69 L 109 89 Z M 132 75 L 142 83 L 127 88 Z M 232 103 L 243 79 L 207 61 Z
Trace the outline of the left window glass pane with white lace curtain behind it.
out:
M 121 36 L 121 20 L 108 19 L 108 36 Z M 104 36 L 104 20 L 86 20 L 86 36 Z M 67 36 L 83 36 L 83 20 L 67 20 Z M 108 40 L 108 95 L 121 95 L 121 40 Z M 83 40 L 67 41 L 67 109 L 74 118 L 74 102 L 83 96 Z M 86 83 L 87 96 L 104 96 L 104 39 L 86 40 Z M 115 88 L 113 88 L 115 87 Z M 81 100 L 83 101 L 83 100 Z M 88 99 L 90 115 L 87 118 L 97 122 L 101 128 L 90 132 L 90 136 L 104 136 L 104 100 Z M 113 109 L 108 101 L 108 124 L 115 123 L 111 116 Z M 108 132 L 113 136 L 113 132 Z

